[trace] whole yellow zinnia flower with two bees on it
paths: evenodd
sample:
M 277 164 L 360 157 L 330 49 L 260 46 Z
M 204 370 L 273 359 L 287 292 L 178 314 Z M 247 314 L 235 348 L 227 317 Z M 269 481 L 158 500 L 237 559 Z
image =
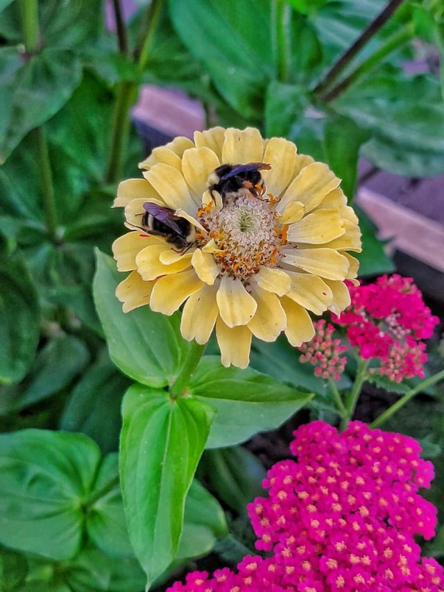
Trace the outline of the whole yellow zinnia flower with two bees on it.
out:
M 247 163 L 235 177 L 214 173 Z M 149 304 L 169 315 L 185 303 L 183 337 L 205 344 L 216 326 L 222 363 L 244 368 L 252 335 L 284 331 L 300 346 L 314 335 L 307 311 L 349 305 L 344 280 L 358 262 L 347 251 L 361 251 L 361 233 L 326 164 L 287 139 L 216 127 L 154 149 L 140 167 L 144 179 L 123 181 L 114 202 L 131 229 L 113 244 L 131 272 L 116 291 L 125 312 Z

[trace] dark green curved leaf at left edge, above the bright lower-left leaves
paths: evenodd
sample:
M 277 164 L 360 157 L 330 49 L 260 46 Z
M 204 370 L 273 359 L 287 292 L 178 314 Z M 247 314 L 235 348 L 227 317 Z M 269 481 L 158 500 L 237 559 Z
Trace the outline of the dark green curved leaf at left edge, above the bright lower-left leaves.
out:
M 37 353 L 22 382 L 0 387 L 0 415 L 34 405 L 67 387 L 88 360 L 88 350 L 77 337 L 62 334 L 51 339 Z

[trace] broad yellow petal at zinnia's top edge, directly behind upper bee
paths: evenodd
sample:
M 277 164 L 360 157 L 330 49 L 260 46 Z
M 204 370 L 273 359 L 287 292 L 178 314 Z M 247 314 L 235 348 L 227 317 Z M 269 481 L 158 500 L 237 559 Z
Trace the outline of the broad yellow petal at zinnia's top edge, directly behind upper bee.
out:
M 256 128 L 225 130 L 225 142 L 222 147 L 222 164 L 246 164 L 262 162 L 263 140 Z

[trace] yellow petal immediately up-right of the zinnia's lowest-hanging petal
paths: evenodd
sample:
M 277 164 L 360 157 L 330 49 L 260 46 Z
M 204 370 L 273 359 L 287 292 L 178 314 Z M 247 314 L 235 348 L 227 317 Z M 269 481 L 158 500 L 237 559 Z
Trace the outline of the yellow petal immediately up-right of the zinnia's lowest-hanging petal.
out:
M 257 310 L 247 327 L 258 339 L 275 341 L 287 326 L 287 317 L 280 300 L 275 294 L 259 287 L 253 291 L 253 294 L 257 302 Z

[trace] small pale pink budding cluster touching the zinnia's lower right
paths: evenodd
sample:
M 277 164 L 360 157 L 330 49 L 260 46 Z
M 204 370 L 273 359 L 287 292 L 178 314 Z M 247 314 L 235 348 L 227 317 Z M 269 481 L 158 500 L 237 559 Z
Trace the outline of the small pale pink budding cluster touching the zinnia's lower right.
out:
M 345 369 L 347 358 L 341 356 L 347 348 L 341 345 L 340 339 L 333 339 L 334 326 L 324 319 L 313 323 L 315 335 L 311 341 L 302 344 L 298 350 L 302 353 L 301 362 L 309 362 L 314 373 L 320 378 L 339 380 Z

